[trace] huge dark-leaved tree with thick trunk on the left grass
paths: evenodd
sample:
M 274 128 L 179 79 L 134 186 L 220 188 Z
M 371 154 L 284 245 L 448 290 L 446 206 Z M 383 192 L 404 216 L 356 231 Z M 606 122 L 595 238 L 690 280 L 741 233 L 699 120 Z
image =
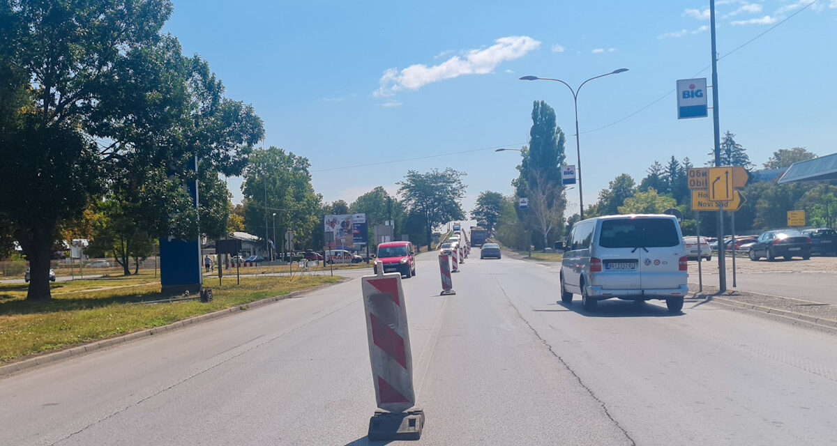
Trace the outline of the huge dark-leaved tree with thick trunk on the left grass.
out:
M 0 214 L 30 261 L 29 300 L 50 298 L 56 228 L 114 177 L 158 192 L 146 217 L 167 221 L 159 235 L 194 237 L 203 210 L 182 185 L 195 157 L 198 176 L 237 175 L 264 135 L 252 107 L 162 33 L 171 12 L 167 0 L 0 0 Z

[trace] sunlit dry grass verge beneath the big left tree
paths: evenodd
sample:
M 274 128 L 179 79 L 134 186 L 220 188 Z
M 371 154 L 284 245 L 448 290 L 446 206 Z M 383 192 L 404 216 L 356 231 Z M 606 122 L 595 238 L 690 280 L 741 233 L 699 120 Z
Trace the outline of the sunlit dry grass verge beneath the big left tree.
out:
M 204 285 L 213 289 L 212 302 L 136 305 L 162 299 L 159 282 L 143 284 L 142 279 L 140 275 L 54 284 L 55 288 L 60 285 L 73 290 L 56 293 L 48 303 L 27 302 L 21 285 L 0 285 L 0 364 L 341 280 L 323 275 L 243 277 L 241 285 L 227 279 L 218 286 L 217 277 L 206 277 Z M 103 290 L 103 286 L 119 288 Z

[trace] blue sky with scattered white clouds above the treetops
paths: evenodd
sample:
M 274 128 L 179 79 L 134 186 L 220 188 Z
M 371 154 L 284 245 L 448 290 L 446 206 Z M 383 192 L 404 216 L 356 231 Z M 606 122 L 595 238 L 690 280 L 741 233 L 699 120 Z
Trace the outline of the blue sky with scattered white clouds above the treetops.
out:
M 719 0 L 727 54 L 811 0 Z M 712 147 L 709 118 L 677 120 L 676 79 L 711 78 L 708 2 L 269 2 L 174 0 L 166 31 L 208 59 L 227 95 L 254 105 L 266 146 L 311 160 L 327 201 L 397 190 L 408 169 L 467 172 L 465 210 L 481 191 L 511 192 L 533 100 L 546 100 L 575 163 L 578 100 L 585 202 L 625 172 Z M 721 132 L 759 166 L 779 148 L 837 151 L 837 0 L 819 0 L 718 64 Z M 710 104 L 711 105 L 711 104 Z M 598 131 L 599 127 L 607 126 Z M 592 131 L 592 132 L 591 132 Z M 478 149 L 486 149 L 476 151 Z M 351 167 L 453 152 L 470 153 Z M 229 187 L 240 200 L 240 180 Z M 570 194 L 578 209 L 578 191 Z M 571 209 L 573 204 L 570 205 Z

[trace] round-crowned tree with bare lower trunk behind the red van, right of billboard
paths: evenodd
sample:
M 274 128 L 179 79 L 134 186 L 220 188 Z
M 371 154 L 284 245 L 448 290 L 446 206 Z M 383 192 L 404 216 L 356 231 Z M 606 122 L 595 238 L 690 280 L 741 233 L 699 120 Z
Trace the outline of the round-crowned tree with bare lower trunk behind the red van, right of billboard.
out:
M 442 172 L 439 169 L 425 173 L 411 170 L 403 181 L 398 182 L 398 193 L 403 198 L 405 208 L 409 213 L 417 213 L 424 218 L 428 245 L 435 226 L 450 220 L 465 219 L 461 202 L 465 196 L 462 177 L 465 177 L 465 172 L 448 167 Z

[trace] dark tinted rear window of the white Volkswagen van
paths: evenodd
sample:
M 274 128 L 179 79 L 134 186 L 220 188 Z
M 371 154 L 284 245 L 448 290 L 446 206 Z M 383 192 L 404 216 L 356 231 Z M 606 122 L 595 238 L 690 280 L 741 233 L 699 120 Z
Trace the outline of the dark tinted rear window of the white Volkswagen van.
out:
M 603 248 L 663 248 L 677 246 L 680 238 L 670 218 L 604 220 L 598 244 Z

